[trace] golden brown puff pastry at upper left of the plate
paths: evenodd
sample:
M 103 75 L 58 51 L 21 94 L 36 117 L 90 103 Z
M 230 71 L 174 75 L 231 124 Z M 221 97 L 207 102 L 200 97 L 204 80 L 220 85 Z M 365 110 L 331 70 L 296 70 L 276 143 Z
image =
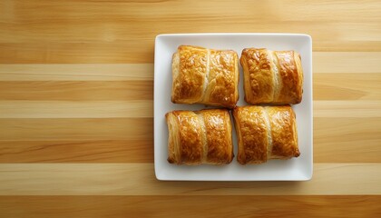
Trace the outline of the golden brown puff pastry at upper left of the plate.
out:
M 238 55 L 181 45 L 172 57 L 171 101 L 232 108 L 239 99 Z

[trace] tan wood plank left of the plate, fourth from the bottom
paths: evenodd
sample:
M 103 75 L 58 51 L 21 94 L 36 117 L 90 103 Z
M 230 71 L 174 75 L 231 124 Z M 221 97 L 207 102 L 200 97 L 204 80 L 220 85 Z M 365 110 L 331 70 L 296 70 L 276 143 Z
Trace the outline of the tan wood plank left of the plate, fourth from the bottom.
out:
M 151 118 L 0 119 L 0 140 L 147 140 Z

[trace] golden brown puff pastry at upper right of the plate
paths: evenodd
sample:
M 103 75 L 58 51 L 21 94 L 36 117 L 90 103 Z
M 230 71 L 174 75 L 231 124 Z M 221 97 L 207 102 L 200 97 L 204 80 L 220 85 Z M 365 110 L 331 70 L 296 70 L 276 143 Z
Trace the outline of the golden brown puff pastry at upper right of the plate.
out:
M 243 68 L 245 101 L 249 104 L 298 104 L 303 93 L 303 68 L 294 51 L 245 48 Z

